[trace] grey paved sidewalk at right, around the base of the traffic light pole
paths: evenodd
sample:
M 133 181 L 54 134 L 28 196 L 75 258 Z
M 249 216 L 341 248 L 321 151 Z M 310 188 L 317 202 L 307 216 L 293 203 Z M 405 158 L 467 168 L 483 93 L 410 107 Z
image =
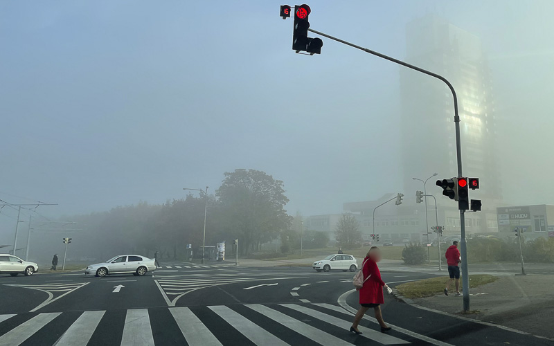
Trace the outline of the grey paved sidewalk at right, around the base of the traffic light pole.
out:
M 485 322 L 554 338 L 554 275 L 511 275 L 472 289 L 470 309 L 464 315 Z M 454 289 L 452 289 L 454 293 Z M 421 307 L 459 314 L 462 298 L 453 294 L 407 300 Z

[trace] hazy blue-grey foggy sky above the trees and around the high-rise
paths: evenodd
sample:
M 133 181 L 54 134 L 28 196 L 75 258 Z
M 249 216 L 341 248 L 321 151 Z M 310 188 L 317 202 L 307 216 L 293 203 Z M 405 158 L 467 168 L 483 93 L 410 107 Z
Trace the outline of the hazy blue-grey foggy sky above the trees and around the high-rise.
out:
M 283 180 L 292 215 L 400 192 L 400 67 L 329 39 L 294 54 L 282 4 L 1 2 L 0 199 L 59 203 L 39 208 L 59 217 L 213 193 L 236 168 Z M 552 1 L 310 6 L 315 30 L 400 59 L 406 23 L 426 13 L 479 36 L 504 198 L 554 203 Z M 1 210 L 0 243 L 15 216 Z

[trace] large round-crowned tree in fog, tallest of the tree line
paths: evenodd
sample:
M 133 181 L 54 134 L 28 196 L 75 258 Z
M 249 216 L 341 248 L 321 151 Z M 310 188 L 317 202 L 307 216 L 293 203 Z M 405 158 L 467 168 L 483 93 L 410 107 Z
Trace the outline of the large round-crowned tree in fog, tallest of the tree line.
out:
M 291 219 L 283 207 L 283 181 L 258 170 L 226 172 L 215 194 L 219 198 L 222 227 L 240 239 L 240 253 L 249 254 L 260 244 L 277 237 L 290 227 Z

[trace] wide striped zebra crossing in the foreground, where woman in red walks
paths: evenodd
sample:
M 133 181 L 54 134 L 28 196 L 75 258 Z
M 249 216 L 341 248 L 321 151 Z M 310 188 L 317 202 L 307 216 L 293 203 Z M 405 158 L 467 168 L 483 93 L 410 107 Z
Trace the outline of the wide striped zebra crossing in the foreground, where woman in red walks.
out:
M 364 322 L 332 304 L 234 304 L 0 315 L 0 346 L 402 345 L 421 340 Z

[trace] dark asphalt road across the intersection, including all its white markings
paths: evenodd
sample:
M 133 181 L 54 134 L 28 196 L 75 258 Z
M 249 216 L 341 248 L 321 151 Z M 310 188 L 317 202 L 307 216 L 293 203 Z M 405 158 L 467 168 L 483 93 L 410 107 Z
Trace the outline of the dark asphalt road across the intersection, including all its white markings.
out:
M 352 276 L 186 263 L 143 277 L 0 274 L 0 345 L 553 345 L 392 296 L 382 310 L 393 331 L 382 334 L 369 313 L 355 336 Z M 382 276 L 395 286 L 434 275 Z

